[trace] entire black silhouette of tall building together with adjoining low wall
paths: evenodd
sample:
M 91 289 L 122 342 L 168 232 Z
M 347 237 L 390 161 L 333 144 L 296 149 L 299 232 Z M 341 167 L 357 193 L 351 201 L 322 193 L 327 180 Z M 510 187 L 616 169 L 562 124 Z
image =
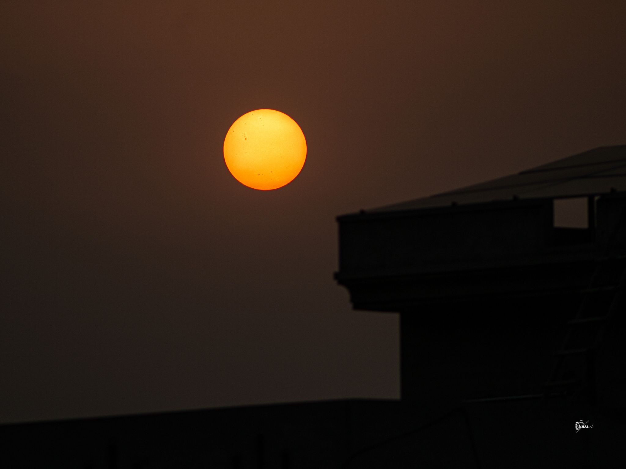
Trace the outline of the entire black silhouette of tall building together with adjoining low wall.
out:
M 399 401 L 2 425 L 0 467 L 623 465 L 626 146 L 337 220 L 352 305 L 400 315 Z

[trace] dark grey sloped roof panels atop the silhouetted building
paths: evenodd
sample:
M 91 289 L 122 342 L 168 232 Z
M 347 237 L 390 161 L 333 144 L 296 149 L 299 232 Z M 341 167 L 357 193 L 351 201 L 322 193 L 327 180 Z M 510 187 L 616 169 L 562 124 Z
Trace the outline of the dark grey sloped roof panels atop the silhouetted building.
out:
M 480 204 L 515 197 L 585 197 L 615 190 L 626 190 L 626 145 L 595 148 L 514 175 L 366 212 Z

